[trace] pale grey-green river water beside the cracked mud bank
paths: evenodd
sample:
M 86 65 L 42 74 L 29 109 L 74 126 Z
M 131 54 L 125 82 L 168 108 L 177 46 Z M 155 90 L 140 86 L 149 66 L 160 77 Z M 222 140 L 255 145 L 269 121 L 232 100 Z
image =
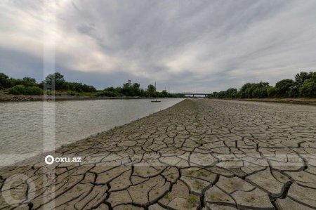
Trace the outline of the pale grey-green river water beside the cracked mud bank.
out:
M 164 110 L 182 98 L 0 103 L 0 166 Z

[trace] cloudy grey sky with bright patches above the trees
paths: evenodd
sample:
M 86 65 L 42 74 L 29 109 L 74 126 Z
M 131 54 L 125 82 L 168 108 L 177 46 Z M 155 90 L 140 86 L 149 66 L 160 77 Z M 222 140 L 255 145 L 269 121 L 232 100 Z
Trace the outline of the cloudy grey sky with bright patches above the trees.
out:
M 316 1 L 1 0 L 0 72 L 210 93 L 316 71 Z

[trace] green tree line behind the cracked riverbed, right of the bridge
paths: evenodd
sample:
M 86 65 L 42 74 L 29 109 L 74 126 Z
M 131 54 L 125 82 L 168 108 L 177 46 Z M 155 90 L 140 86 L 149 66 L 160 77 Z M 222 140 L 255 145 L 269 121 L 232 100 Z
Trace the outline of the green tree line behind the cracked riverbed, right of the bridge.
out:
M 242 88 L 213 92 L 209 98 L 296 98 L 316 97 L 316 72 L 300 72 L 295 80 L 282 79 L 275 86 L 268 82 L 246 83 Z

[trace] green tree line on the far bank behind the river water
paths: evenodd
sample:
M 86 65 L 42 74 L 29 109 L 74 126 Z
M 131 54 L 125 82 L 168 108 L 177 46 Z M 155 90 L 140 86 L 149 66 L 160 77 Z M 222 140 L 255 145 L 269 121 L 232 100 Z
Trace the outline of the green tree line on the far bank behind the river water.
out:
M 13 95 L 42 95 L 48 87 L 54 86 L 55 93 L 47 91 L 48 94 L 60 95 L 64 93 L 70 96 L 81 96 L 89 93 L 89 96 L 107 96 L 107 97 L 124 97 L 124 96 L 139 96 L 139 97 L 183 97 L 176 94 L 168 93 L 166 90 L 156 91 L 155 86 L 150 84 L 147 89 L 140 88 L 138 83 L 126 83 L 121 87 L 109 87 L 102 91 L 98 91 L 94 86 L 82 84 L 79 82 L 65 81 L 64 75 L 59 72 L 49 74 L 44 81 L 37 83 L 34 78 L 24 77 L 23 79 L 14 79 L 8 77 L 4 73 L 0 73 L 0 89 L 8 90 L 9 94 Z

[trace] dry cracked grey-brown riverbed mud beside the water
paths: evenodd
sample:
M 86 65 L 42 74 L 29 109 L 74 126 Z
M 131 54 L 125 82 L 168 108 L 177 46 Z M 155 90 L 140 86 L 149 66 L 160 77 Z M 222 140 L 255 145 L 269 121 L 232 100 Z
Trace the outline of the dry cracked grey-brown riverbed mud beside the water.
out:
M 184 100 L 0 169 L 0 209 L 316 209 L 316 107 Z

